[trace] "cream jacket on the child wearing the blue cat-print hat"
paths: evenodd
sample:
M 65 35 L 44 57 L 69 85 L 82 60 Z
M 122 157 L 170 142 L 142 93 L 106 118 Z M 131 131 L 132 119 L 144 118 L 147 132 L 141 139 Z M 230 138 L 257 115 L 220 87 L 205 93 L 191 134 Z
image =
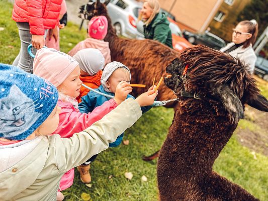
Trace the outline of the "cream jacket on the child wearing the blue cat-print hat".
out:
M 62 175 L 107 149 L 141 115 L 139 104 L 128 98 L 71 138 L 55 134 L 0 146 L 0 200 L 56 200 Z

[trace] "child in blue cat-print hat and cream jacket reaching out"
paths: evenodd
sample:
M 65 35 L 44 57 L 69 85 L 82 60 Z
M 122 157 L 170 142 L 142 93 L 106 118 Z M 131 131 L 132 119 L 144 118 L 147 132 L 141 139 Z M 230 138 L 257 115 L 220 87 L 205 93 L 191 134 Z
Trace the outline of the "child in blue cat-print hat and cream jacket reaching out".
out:
M 0 69 L 0 200 L 55 200 L 64 172 L 107 149 L 157 94 L 149 90 L 129 98 L 90 128 L 60 138 L 48 136 L 59 123 L 57 89 L 15 66 Z M 114 99 L 121 103 L 131 87 L 122 81 L 118 91 Z

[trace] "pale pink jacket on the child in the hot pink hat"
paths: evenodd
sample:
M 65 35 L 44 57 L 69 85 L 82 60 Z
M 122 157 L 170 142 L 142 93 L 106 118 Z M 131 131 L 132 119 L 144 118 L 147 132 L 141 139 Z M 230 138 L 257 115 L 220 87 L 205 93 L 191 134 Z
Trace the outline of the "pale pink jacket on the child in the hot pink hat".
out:
M 76 52 L 85 48 L 99 49 L 104 56 L 105 65 L 111 62 L 111 51 L 109 48 L 109 42 L 97 40 L 94 38 L 86 38 L 85 40 L 80 41 L 77 45 L 74 46 L 74 48 L 72 48 L 68 52 L 68 55 L 73 56 L 76 54 Z

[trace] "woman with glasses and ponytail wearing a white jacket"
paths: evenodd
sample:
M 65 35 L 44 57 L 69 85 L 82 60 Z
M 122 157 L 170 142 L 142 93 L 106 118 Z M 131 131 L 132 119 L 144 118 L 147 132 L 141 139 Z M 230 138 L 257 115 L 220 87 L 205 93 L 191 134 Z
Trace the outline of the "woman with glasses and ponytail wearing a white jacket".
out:
M 255 20 L 239 22 L 233 29 L 232 42 L 221 48 L 220 51 L 244 61 L 248 64 L 249 73 L 252 74 L 257 59 L 252 44 L 254 44 L 257 34 L 258 24 Z

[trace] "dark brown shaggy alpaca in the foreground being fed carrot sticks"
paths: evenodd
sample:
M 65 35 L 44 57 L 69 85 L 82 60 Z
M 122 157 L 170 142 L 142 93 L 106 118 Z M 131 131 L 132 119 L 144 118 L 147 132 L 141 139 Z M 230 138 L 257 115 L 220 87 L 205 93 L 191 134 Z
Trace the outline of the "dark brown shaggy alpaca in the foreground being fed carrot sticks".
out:
M 181 102 L 158 158 L 160 200 L 259 200 L 212 170 L 244 116 L 244 105 L 268 112 L 267 99 L 260 95 L 244 64 L 197 45 L 185 49 L 166 72 L 172 76 L 165 84 Z

